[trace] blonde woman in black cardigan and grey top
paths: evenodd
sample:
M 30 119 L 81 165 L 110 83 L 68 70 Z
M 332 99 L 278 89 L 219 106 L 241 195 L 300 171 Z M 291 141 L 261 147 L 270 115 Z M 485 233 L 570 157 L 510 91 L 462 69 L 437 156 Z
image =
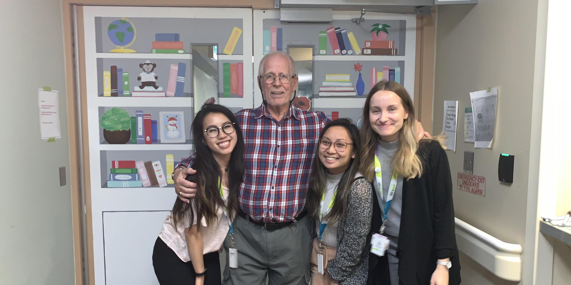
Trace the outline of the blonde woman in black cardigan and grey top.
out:
M 374 188 L 368 284 L 460 284 L 443 138 L 418 141 L 416 134 L 408 92 L 377 83 L 361 128 L 360 173 Z

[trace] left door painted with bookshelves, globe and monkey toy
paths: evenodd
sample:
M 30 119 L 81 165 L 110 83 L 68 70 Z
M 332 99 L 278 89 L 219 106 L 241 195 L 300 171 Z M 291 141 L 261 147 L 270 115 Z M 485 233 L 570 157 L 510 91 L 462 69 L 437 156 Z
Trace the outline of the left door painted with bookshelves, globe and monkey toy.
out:
M 251 9 L 83 7 L 95 284 L 158 284 L 148 260 L 161 222 L 110 235 L 122 215 L 105 213 L 164 221 L 195 112 L 252 107 L 251 26 Z

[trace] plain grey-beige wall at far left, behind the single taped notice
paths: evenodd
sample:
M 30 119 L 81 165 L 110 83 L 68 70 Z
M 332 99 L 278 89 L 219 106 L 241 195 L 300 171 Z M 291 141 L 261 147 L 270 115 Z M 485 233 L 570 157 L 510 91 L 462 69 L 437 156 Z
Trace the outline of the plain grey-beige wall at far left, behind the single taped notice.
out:
M 60 0 L 2 1 L 0 284 L 73 284 Z M 62 139 L 40 139 L 38 88 L 59 91 Z M 69 181 L 69 178 L 68 178 Z

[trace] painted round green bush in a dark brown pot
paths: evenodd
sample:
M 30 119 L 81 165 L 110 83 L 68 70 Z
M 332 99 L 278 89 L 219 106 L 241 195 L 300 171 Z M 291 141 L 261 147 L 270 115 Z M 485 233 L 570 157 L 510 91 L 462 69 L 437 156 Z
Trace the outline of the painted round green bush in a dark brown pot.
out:
M 107 110 L 99 121 L 103 137 L 109 144 L 126 144 L 131 140 L 131 116 L 123 109 Z

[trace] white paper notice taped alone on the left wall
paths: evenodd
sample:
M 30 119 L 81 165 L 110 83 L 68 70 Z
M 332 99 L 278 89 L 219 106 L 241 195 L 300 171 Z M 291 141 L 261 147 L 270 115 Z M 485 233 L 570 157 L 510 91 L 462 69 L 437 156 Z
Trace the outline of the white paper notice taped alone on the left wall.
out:
M 38 89 L 39 130 L 42 140 L 61 138 L 59 128 L 58 91 Z

